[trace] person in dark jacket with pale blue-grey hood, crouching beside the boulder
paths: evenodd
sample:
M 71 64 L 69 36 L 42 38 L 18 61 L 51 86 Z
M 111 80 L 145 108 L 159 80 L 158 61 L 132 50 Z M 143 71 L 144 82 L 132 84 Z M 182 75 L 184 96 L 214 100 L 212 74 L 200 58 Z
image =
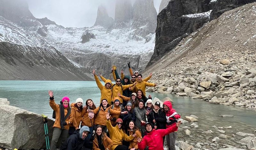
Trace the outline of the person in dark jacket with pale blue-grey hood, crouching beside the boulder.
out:
M 60 150 L 90 150 L 92 143 L 89 141 L 88 134 L 91 133 L 88 126 L 83 126 L 80 130 L 76 130 L 67 140 L 60 146 Z M 91 143 L 91 146 L 89 146 Z M 86 145 L 86 147 L 84 147 Z M 89 147 L 88 147 L 89 146 Z

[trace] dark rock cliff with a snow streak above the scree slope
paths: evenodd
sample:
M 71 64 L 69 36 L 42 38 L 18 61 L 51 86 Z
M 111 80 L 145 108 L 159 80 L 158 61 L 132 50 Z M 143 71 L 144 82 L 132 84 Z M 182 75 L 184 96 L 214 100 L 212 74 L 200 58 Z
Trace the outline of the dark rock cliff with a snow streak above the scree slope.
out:
M 183 38 L 209 20 L 252 2 L 256 0 L 197 0 L 189 3 L 186 0 L 171 0 L 157 16 L 156 45 L 147 67 L 172 51 Z

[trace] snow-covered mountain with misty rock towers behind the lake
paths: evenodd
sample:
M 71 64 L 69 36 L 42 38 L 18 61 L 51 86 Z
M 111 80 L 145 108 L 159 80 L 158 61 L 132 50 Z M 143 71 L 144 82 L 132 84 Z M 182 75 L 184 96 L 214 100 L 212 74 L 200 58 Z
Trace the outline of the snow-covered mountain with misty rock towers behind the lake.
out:
M 136 0 L 133 6 L 131 0 L 117 1 L 118 13 L 115 20 L 108 17 L 106 9 L 100 6 L 95 25 L 83 28 L 65 28 L 57 25 L 54 20 L 36 19 L 28 10 L 27 4 L 23 4 L 21 0 L 15 0 L 20 3 L 21 8 L 17 3 L 0 1 L 9 8 L 7 10 L 0 7 L 2 18 L 16 23 L 22 28 L 20 31 L 30 33 L 20 32 L 10 37 L 10 33 L 4 30 L 1 41 L 16 41 L 13 43 L 31 47 L 52 46 L 84 70 L 96 69 L 97 72 L 108 76 L 111 66 L 115 64 L 118 69 L 124 69 L 124 72 L 128 73 L 127 63 L 131 62 L 134 71 L 143 71 L 153 54 L 157 16 L 153 0 Z M 17 14 L 10 11 L 15 9 L 26 13 Z M 4 27 L 10 26 L 8 24 L 8 21 L 2 21 Z M 94 34 L 95 39 L 84 37 L 87 34 Z M 26 38 L 27 35 L 31 36 L 30 40 L 18 38 Z M 88 42 L 82 43 L 82 37 Z

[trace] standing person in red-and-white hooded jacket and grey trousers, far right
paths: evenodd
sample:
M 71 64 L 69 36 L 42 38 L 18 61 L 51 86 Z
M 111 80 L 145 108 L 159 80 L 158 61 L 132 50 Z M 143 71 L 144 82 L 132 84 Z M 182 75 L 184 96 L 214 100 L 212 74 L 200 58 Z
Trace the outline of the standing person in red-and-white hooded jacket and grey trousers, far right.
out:
M 176 112 L 175 109 L 172 108 L 171 101 L 165 101 L 163 103 L 163 108 L 164 108 L 165 116 L 167 119 L 166 128 L 169 128 L 178 122 L 177 119 L 180 118 L 180 115 Z M 177 138 L 177 131 L 178 131 L 178 128 L 174 132 L 166 135 L 166 144 L 168 146 L 168 150 L 176 150 L 175 140 Z

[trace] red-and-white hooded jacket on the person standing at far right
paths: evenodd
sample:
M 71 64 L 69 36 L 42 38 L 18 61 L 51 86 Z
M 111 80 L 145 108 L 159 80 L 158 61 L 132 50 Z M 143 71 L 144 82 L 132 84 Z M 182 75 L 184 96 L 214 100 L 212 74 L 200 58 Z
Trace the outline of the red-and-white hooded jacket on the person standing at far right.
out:
M 176 112 L 175 109 L 172 108 L 171 101 L 165 101 L 163 103 L 163 107 L 164 107 L 164 105 L 169 107 L 169 110 L 167 112 L 164 111 L 166 119 L 167 119 L 166 120 L 166 128 L 169 128 L 169 127 L 173 126 L 174 124 L 176 124 L 178 122 L 177 119 L 180 118 L 180 115 Z M 176 131 L 178 131 L 178 128 L 177 128 Z

